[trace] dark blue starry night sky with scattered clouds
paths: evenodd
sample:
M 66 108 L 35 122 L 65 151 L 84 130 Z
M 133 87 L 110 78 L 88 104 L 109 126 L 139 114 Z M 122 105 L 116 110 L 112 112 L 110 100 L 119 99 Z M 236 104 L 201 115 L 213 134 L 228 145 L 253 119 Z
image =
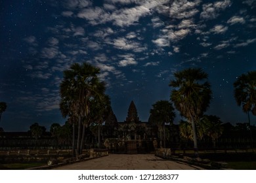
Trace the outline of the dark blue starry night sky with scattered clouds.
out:
M 173 73 L 188 67 L 209 75 L 206 114 L 247 122 L 233 83 L 256 68 L 255 28 L 255 0 L 0 1 L 0 127 L 64 124 L 59 86 L 75 62 L 101 69 L 119 122 L 132 100 L 148 121 L 152 104 L 169 100 Z

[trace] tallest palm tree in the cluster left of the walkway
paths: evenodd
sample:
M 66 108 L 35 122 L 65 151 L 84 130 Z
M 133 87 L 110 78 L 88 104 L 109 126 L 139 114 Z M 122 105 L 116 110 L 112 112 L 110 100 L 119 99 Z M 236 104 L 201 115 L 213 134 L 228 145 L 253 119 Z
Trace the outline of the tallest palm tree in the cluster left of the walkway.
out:
M 74 63 L 70 69 L 64 71 L 64 80 L 60 84 L 62 102 L 78 118 L 77 154 L 81 152 L 81 126 L 89 114 L 89 103 L 106 90 L 105 83 L 98 79 L 99 73 L 100 69 L 89 63 Z

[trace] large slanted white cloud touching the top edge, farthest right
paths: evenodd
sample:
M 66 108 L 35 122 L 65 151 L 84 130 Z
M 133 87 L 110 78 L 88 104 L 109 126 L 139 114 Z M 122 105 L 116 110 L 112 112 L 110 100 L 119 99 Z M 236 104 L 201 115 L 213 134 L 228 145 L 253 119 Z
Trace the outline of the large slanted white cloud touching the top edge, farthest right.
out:
M 213 20 L 221 14 L 221 11 L 225 10 L 230 5 L 230 0 L 207 3 L 203 5 L 203 11 L 200 14 L 200 18 L 203 20 Z

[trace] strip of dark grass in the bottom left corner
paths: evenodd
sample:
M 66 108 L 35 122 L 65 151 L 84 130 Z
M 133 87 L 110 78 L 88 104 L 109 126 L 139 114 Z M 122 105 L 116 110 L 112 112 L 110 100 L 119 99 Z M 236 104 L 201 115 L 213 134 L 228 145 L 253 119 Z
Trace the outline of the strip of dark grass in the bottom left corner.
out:
M 1 170 L 24 170 L 32 167 L 39 167 L 45 165 L 45 163 L 8 163 L 0 164 Z

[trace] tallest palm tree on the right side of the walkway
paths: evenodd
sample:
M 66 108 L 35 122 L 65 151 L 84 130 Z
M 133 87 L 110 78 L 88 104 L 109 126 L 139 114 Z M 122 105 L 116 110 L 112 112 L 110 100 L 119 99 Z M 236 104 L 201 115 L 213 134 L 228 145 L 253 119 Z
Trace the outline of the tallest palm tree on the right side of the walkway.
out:
M 169 86 L 171 101 L 179 110 L 181 116 L 192 124 L 195 155 L 198 156 L 198 142 L 196 137 L 196 123 L 200 121 L 203 112 L 209 107 L 211 101 L 211 87 L 207 80 L 207 73 L 202 69 L 189 68 L 174 74 Z

